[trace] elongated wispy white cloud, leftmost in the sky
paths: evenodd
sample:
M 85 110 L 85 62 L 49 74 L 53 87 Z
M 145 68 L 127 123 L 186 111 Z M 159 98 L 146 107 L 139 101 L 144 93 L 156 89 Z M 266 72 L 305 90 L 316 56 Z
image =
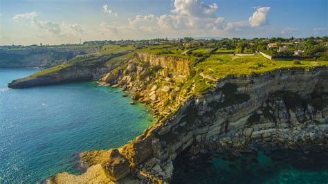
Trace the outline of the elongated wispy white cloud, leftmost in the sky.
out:
M 28 26 L 47 30 L 49 33 L 53 33 L 55 35 L 60 34 L 60 26 L 58 24 L 51 21 L 40 20 L 39 17 L 37 17 L 37 12 L 15 15 L 13 19 L 15 21 L 28 24 Z

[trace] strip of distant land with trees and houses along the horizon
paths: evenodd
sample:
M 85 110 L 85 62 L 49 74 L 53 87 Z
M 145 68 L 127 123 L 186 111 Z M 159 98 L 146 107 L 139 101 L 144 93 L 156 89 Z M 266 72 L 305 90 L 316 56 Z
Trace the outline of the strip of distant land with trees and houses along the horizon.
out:
M 206 51 L 211 54 L 232 54 L 232 55 L 254 55 L 262 54 L 268 59 L 318 59 L 328 60 L 328 37 L 307 37 L 307 38 L 223 38 L 223 39 L 194 39 L 184 37 L 179 39 L 145 39 L 145 40 L 102 40 L 88 41 L 81 44 L 33 44 L 30 46 L 11 45 L 0 46 L 0 50 L 19 49 L 39 49 L 39 48 L 67 48 L 78 46 L 99 46 L 106 45 L 134 46 L 136 49 L 147 46 L 168 45 L 177 46 L 181 50 L 186 50 L 183 55 L 194 55 L 201 57 L 206 55 Z M 203 52 L 192 52 L 203 48 Z

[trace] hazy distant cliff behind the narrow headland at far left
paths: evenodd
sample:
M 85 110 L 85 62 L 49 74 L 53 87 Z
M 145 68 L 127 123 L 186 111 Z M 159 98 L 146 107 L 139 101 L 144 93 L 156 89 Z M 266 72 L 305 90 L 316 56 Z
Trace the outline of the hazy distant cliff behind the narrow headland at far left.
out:
M 44 67 L 62 64 L 76 55 L 97 53 L 98 47 L 0 50 L 0 68 Z

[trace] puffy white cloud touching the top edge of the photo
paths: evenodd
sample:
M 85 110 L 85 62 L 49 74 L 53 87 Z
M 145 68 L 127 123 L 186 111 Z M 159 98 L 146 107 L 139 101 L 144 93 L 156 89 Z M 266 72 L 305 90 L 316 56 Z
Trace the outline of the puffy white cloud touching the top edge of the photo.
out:
M 187 15 L 190 17 L 214 17 L 217 8 L 216 3 L 206 5 L 199 0 L 175 0 L 174 10 L 171 12 L 176 15 Z

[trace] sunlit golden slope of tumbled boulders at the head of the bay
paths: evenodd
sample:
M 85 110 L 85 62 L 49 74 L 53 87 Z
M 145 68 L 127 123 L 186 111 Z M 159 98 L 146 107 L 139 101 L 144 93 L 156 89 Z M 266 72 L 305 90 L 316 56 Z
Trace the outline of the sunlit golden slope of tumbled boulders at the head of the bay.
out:
M 191 94 L 182 86 L 190 75 L 188 59 L 137 53 L 123 67 L 107 73 L 102 82 L 133 93 L 133 99 L 149 104 L 154 116 L 176 111 Z

